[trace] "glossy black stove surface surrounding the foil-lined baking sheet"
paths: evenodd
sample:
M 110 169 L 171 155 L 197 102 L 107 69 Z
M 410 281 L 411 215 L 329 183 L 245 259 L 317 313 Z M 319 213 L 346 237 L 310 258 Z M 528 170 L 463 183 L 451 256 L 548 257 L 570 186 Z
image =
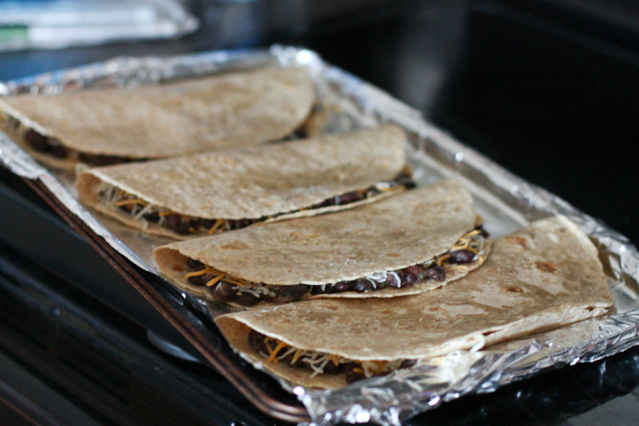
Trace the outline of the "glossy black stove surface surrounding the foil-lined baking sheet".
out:
M 306 8 L 287 12 L 299 19 L 289 25 L 265 14 L 265 2 L 201 2 L 196 10 L 205 19 L 203 27 L 181 40 L 0 54 L 0 80 L 122 54 L 177 54 L 273 42 L 305 45 L 418 107 L 462 142 L 639 242 L 634 214 L 639 30 L 628 19 L 638 14 L 636 8 L 622 1 L 596 0 L 572 5 L 559 0 L 346 3 L 350 8 L 330 10 L 308 1 Z M 0 180 L 11 193 L 3 206 L 10 199 L 79 240 L 19 181 L 5 172 Z M 0 212 L 5 224 L 23 219 L 26 213 Z M 18 394 L 32 398 L 26 407 L 58 413 L 58 420 L 70 417 L 59 417 L 62 410 L 52 408 L 54 394 L 67 401 L 69 410 L 78 409 L 76 420 L 92 418 L 98 423 L 123 423 L 127 418 L 152 422 L 160 415 L 172 418 L 172 412 L 191 416 L 193 423 L 268 421 L 210 369 L 172 359 L 150 346 L 145 329 L 192 351 L 144 299 L 122 287 L 126 282 L 117 282 L 115 273 L 109 275 L 110 267 L 101 258 L 91 260 L 89 271 L 69 268 L 63 262 L 63 246 L 59 256 L 50 256 L 46 247 L 38 246 L 43 236 L 30 229 L 0 229 L 0 400 L 8 399 L 3 390 L 15 390 L 19 383 Z M 91 250 L 88 245 L 87 250 Z M 11 278 L 10 270 L 24 273 Z M 41 272 L 32 273 L 36 270 Z M 52 270 L 59 276 L 51 278 Z M 36 278 L 28 282 L 16 278 L 34 274 Z M 100 282 L 122 285 L 114 289 L 100 287 Z M 73 315 L 56 314 L 52 300 Z M 91 340 L 96 334 L 98 343 Z M 91 339 L 85 340 L 87 335 Z M 76 350 L 75 355 L 63 350 L 67 346 Z M 104 370 L 100 353 L 109 354 L 106 361 L 117 360 L 119 370 Z M 639 408 L 638 361 L 635 349 L 592 365 L 548 372 L 495 394 L 446 403 L 411 423 L 517 419 L 595 424 L 614 419 L 630 424 Z M 54 367 L 45 368 L 49 364 Z M 6 374 L 9 366 L 12 373 Z M 35 385 L 27 388 L 24 383 L 40 383 L 50 392 L 36 392 Z M 91 397 L 91 392 L 102 397 Z

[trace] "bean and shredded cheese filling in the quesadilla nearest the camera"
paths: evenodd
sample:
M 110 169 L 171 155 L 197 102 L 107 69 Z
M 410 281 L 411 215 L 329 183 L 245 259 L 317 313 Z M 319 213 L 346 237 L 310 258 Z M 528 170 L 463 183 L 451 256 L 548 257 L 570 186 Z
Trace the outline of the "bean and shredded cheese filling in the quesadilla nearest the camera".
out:
M 397 361 L 353 361 L 350 359 L 328 355 L 314 350 L 296 349 L 283 341 L 273 339 L 249 331 L 249 345 L 268 362 L 285 363 L 293 368 L 309 370 L 310 377 L 317 374 L 346 374 L 346 382 L 352 383 L 361 379 L 375 376 L 385 376 L 399 368 L 409 368 L 415 365 L 414 359 Z

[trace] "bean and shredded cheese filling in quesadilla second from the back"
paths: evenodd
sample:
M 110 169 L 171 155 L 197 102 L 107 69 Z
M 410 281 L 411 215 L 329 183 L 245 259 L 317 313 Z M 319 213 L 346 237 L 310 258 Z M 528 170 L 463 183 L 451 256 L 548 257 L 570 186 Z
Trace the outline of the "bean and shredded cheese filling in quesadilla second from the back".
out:
M 320 203 L 315 203 L 309 208 L 302 208 L 300 210 L 293 210 L 291 212 L 282 212 L 277 214 L 271 214 L 269 216 L 262 216 L 259 218 L 243 218 L 243 219 L 205 219 L 188 216 L 185 214 L 179 214 L 159 208 L 155 205 L 151 205 L 146 201 L 136 197 L 133 194 L 129 194 L 123 190 L 117 189 L 114 186 L 103 183 L 98 188 L 98 197 L 100 202 L 111 208 L 117 208 L 122 212 L 131 214 L 135 218 L 142 218 L 147 223 L 155 223 L 161 227 L 169 229 L 172 232 L 180 235 L 212 235 L 218 232 L 224 232 L 231 229 L 239 229 L 252 225 L 253 223 L 264 222 L 270 218 L 276 218 L 283 214 L 293 214 L 300 212 L 301 210 L 311 210 L 328 207 L 330 205 L 344 205 L 348 203 L 355 203 L 373 197 L 381 192 L 387 192 L 392 190 L 399 190 L 400 188 L 414 188 L 415 183 L 410 175 L 410 170 L 402 171 L 397 177 L 388 182 L 380 182 L 376 185 L 369 186 L 364 190 L 356 190 L 340 194 L 330 199 L 325 199 Z

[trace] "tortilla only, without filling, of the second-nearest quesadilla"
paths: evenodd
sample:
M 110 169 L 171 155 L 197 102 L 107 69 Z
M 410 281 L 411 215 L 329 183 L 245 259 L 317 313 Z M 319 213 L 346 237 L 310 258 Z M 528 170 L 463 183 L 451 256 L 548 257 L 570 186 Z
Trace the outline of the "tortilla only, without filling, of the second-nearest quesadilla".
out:
M 203 287 L 183 277 L 186 258 L 249 282 L 287 286 L 322 285 L 395 271 L 444 254 L 475 227 L 472 198 L 458 181 L 447 179 L 358 208 L 312 218 L 253 225 L 224 234 L 157 247 L 157 267 L 181 289 L 213 300 Z M 486 250 L 489 249 L 486 245 Z M 483 259 L 467 265 L 477 267 Z M 416 282 L 412 287 L 322 294 L 314 297 L 395 297 L 445 285 Z

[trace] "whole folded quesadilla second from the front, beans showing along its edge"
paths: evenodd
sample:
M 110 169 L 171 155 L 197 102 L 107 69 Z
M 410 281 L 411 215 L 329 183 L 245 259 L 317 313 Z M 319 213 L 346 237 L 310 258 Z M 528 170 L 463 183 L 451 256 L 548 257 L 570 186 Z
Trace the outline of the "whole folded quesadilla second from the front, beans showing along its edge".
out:
M 157 247 L 180 289 L 234 306 L 306 298 L 392 298 L 445 285 L 482 264 L 490 244 L 458 181 L 310 218 Z

